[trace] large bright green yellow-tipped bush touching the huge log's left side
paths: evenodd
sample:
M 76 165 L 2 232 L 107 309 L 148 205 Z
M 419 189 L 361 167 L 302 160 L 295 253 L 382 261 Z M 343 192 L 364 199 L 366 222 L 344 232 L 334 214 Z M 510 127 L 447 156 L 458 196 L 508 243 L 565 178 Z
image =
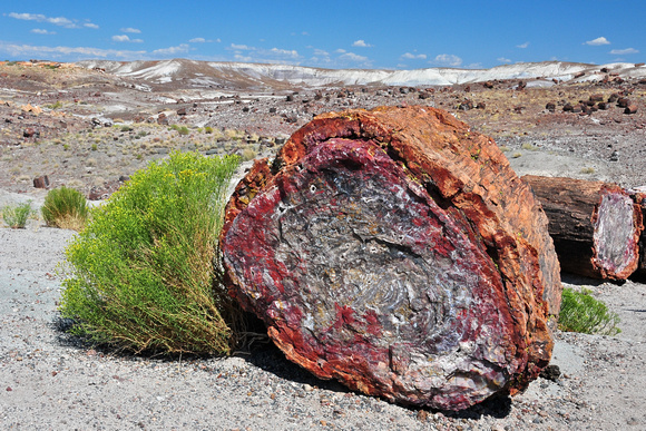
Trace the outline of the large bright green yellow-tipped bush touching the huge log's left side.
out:
M 229 352 L 239 311 L 221 282 L 217 235 L 237 165 L 173 151 L 92 209 L 66 251 L 60 312 L 74 334 L 133 352 Z

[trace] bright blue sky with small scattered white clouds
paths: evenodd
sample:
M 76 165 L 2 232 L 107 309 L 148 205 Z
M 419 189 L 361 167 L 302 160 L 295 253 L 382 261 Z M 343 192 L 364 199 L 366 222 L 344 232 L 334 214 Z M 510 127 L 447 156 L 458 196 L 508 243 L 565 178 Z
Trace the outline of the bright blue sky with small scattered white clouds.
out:
M 646 60 L 645 0 L 0 2 L 0 60 L 491 68 Z

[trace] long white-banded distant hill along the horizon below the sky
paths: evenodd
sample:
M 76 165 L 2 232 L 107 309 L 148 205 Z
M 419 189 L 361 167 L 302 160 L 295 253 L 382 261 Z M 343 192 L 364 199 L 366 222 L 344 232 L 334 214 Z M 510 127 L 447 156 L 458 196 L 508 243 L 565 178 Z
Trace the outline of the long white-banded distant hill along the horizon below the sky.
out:
M 537 85 L 561 81 L 601 80 L 608 74 L 624 78 L 646 77 L 646 67 L 628 62 L 587 65 L 562 61 L 528 62 L 491 69 L 428 68 L 415 70 L 319 69 L 290 65 L 209 62 L 186 59 L 160 61 L 88 60 L 77 66 L 102 69 L 151 87 L 227 88 L 280 90 L 354 85 L 451 86 L 496 79 L 535 79 Z M 542 81 L 544 84 L 540 84 Z

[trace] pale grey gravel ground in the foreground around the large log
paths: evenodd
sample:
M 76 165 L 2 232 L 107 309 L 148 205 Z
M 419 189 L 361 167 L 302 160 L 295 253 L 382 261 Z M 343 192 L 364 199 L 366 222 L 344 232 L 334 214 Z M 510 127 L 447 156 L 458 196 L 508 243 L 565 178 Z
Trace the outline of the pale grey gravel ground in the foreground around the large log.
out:
M 0 428 L 17 430 L 646 429 L 646 286 L 585 285 L 621 317 L 617 336 L 557 333 L 552 363 L 512 399 L 460 413 L 390 404 L 316 380 L 273 347 L 165 361 L 97 351 L 62 332 L 57 262 L 70 231 L 0 228 Z

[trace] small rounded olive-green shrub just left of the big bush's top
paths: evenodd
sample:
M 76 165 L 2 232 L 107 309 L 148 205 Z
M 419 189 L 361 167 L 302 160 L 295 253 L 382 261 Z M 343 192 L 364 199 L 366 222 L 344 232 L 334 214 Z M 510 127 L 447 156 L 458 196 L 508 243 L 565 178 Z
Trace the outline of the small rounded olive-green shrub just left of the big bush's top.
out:
M 80 231 L 88 218 L 88 204 L 79 190 L 62 186 L 48 192 L 40 213 L 48 226 Z

